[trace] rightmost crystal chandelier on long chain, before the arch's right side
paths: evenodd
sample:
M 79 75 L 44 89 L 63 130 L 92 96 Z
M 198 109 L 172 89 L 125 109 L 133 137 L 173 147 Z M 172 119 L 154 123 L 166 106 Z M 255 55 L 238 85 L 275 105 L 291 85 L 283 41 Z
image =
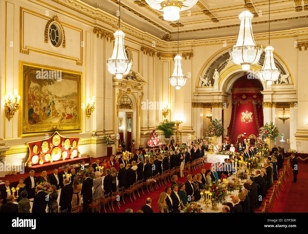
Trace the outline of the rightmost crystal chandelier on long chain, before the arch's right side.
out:
M 260 79 L 271 83 L 276 81 L 279 78 L 280 71 L 276 68 L 273 51 L 274 48 L 270 46 L 270 0 L 269 0 L 269 45 L 264 49 L 265 50 L 265 59 L 263 67 L 260 71 L 257 71 Z M 283 121 L 283 123 L 285 123 Z

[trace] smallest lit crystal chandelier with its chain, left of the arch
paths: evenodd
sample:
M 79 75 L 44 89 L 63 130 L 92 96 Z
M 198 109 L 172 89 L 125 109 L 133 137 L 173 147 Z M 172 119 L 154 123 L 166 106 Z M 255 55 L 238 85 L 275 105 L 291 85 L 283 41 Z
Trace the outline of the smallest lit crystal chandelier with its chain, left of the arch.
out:
M 187 77 L 184 76 L 181 64 L 182 57 L 179 55 L 179 24 L 177 25 L 177 54 L 174 57 L 174 70 L 172 76 L 169 76 L 169 82 L 172 86 L 175 86 L 175 89 L 180 89 L 181 86 L 184 86 L 187 80 Z

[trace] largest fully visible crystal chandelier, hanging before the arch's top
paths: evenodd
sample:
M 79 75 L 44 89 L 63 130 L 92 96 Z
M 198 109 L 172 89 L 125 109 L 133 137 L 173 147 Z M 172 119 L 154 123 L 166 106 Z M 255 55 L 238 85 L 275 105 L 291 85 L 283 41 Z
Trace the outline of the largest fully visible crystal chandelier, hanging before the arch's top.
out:
M 235 64 L 242 65 L 244 71 L 249 71 L 250 64 L 255 64 L 259 61 L 262 46 L 257 46 L 256 42 L 254 42 L 251 26 L 253 14 L 246 9 L 239 14 L 238 18 L 241 20 L 240 31 L 236 45 L 229 50 L 229 54 Z

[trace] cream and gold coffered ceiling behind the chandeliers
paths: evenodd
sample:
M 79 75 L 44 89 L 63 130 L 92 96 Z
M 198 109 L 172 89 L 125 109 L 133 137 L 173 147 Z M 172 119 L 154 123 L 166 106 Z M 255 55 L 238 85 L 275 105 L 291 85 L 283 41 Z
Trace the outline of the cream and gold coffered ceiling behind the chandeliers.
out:
M 118 0 L 83 0 L 83 2 L 116 15 Z M 189 10 L 180 12 L 180 40 L 236 35 L 244 0 L 199 0 Z M 248 0 L 254 14 L 254 33 L 268 31 L 268 0 Z M 308 26 L 308 0 L 271 0 L 271 31 Z M 121 20 L 158 38 L 171 34 L 177 40 L 177 22 L 164 21 L 163 12 L 154 10 L 145 0 L 121 0 Z M 166 36 L 164 38 L 167 38 Z

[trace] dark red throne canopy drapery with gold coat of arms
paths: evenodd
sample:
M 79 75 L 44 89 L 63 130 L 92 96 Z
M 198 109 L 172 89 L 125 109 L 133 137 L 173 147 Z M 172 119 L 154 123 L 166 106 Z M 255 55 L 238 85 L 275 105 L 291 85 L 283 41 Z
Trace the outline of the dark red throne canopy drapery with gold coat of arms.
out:
M 237 79 L 232 87 L 232 114 L 228 127 L 231 143 L 237 142 L 239 134 L 258 136 L 258 130 L 263 126 L 263 87 L 259 80 L 248 79 L 244 75 Z

